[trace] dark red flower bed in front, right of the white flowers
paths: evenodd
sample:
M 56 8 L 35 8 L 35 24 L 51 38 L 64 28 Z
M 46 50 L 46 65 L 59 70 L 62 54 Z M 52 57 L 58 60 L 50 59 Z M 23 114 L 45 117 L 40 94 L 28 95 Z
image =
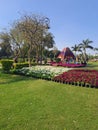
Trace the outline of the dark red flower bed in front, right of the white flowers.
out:
M 54 77 L 54 81 L 98 88 L 98 71 L 70 70 Z

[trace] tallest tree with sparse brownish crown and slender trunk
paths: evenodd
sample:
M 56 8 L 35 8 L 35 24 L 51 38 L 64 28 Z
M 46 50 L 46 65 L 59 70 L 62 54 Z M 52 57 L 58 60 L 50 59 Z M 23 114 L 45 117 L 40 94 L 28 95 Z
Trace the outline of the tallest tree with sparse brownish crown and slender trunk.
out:
M 28 44 L 28 61 L 31 66 L 31 53 L 36 49 L 36 57 L 39 58 L 40 45 L 43 41 L 43 36 L 49 29 L 49 19 L 39 15 L 24 15 L 16 22 L 24 38 L 24 42 Z

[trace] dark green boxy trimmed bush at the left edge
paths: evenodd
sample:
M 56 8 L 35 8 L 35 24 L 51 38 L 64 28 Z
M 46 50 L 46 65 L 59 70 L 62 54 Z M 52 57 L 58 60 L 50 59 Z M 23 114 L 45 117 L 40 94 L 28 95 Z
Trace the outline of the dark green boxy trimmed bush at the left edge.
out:
M 12 66 L 13 66 L 13 60 L 2 59 L 1 64 L 2 64 L 3 71 L 9 72 L 10 69 L 12 68 Z

